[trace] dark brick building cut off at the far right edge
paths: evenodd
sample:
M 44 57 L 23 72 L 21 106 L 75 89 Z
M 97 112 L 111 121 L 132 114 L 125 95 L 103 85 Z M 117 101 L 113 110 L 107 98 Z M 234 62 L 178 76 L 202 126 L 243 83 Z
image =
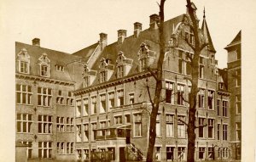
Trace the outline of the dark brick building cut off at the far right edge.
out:
M 230 95 L 230 134 L 232 158 L 241 159 L 241 31 L 224 49 L 228 52 L 228 90 Z

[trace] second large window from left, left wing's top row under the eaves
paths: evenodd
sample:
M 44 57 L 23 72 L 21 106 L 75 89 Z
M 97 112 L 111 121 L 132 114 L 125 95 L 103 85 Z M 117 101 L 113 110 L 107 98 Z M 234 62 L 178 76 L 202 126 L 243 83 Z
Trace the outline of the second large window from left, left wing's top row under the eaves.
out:
M 52 90 L 47 87 L 38 87 L 38 105 L 51 106 Z

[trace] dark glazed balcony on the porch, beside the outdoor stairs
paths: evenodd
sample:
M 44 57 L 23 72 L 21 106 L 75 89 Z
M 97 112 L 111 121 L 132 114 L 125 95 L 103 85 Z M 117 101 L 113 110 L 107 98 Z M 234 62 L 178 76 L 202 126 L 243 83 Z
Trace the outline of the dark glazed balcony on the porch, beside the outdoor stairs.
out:
M 96 130 L 96 140 L 125 139 L 131 137 L 131 124 L 119 124 Z

